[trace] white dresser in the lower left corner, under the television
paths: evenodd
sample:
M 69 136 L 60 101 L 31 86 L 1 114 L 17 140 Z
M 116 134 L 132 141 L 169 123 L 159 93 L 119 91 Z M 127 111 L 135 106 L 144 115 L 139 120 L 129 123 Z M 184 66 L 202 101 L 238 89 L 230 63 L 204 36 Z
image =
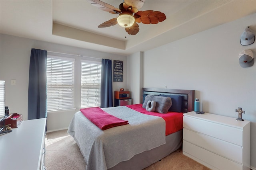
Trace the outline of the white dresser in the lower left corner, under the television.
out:
M 46 118 L 22 121 L 0 136 L 0 170 L 43 170 Z

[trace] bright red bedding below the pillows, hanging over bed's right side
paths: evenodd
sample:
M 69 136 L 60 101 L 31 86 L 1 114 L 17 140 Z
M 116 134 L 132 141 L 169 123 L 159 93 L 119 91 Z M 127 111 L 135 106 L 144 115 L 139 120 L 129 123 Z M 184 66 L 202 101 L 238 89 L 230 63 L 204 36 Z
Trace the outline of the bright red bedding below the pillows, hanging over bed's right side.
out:
M 142 104 L 133 104 L 133 105 L 128 105 L 127 107 L 134 109 L 140 113 L 162 117 L 166 122 L 165 123 L 166 136 L 171 133 L 177 132 L 183 128 L 183 113 L 170 112 L 170 111 L 167 113 L 150 112 L 142 108 Z

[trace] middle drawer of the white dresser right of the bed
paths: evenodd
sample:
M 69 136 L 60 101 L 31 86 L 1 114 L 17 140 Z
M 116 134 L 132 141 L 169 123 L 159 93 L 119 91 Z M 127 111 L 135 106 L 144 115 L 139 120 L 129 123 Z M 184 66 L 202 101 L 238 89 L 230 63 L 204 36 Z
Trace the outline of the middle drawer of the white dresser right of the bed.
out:
M 220 139 L 183 129 L 183 140 L 209 150 L 215 154 L 242 163 L 243 149 L 241 146 L 222 141 Z

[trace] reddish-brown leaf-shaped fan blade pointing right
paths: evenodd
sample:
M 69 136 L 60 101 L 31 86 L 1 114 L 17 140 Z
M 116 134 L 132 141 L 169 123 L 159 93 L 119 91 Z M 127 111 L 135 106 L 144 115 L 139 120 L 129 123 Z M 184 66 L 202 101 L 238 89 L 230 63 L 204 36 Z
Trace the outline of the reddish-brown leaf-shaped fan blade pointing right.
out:
M 156 24 L 158 22 L 162 22 L 166 19 L 164 13 L 159 11 L 147 10 L 147 11 L 139 11 L 134 14 L 135 21 L 144 24 Z

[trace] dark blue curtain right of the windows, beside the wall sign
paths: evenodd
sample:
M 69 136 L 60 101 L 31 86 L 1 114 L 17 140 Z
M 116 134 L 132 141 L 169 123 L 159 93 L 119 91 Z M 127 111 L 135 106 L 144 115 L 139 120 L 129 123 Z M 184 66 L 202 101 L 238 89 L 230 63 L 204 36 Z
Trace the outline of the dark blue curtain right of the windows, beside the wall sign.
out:
M 101 61 L 100 107 L 113 107 L 112 60 Z

